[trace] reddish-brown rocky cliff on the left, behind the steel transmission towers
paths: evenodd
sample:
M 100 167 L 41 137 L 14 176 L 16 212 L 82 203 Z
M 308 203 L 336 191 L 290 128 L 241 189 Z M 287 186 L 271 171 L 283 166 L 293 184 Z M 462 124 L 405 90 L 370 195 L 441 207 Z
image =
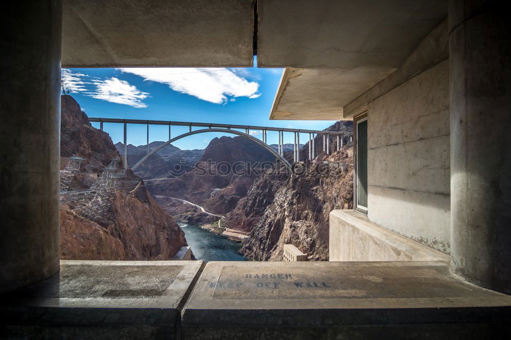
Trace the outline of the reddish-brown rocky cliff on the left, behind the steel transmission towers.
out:
M 120 158 L 108 134 L 90 125 L 71 96 L 61 98 L 61 167 L 67 158 L 84 158 L 71 189 L 87 189 L 113 158 Z M 127 171 L 125 183 L 108 198 L 108 210 L 94 221 L 73 212 L 76 203 L 61 205 L 60 243 L 63 259 L 164 260 L 186 245 L 184 233 L 163 211 L 141 178 Z M 141 186 L 134 193 L 133 187 Z

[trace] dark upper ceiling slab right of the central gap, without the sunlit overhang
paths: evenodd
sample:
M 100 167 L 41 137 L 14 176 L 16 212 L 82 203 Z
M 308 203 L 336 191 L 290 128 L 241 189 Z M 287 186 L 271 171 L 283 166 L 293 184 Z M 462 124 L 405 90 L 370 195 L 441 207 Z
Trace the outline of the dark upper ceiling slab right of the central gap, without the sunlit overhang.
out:
M 446 15 L 446 0 L 259 0 L 258 65 L 398 68 Z

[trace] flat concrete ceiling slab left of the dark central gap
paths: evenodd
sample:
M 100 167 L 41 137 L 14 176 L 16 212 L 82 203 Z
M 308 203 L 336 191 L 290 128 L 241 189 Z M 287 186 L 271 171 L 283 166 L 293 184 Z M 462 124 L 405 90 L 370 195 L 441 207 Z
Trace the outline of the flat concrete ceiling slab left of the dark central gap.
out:
M 250 67 L 252 45 L 251 0 L 64 0 L 64 67 Z

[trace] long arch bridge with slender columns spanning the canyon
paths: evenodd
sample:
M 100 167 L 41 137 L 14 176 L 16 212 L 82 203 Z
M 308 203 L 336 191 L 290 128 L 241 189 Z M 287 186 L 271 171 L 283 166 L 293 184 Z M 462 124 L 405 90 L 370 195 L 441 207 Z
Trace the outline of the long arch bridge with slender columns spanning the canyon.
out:
M 200 122 L 180 122 L 180 121 L 165 121 L 165 120 L 138 120 L 138 119 L 118 119 L 118 118 L 89 118 L 90 122 L 98 122 L 100 123 L 100 129 L 103 130 L 103 123 L 119 123 L 124 125 L 124 167 L 127 168 L 127 124 L 145 124 L 147 125 L 147 154 L 138 161 L 135 165 L 131 167 L 132 170 L 135 170 L 138 166 L 140 166 L 144 161 L 146 161 L 149 156 L 157 152 L 158 150 L 166 147 L 167 145 L 180 140 L 182 138 L 208 133 L 208 132 L 220 132 L 220 133 L 228 133 L 237 136 L 242 136 L 262 147 L 264 147 L 269 152 L 273 153 L 275 157 L 280 160 L 288 169 L 291 170 L 291 164 L 284 158 L 284 133 L 293 133 L 294 134 L 294 143 L 293 143 L 293 161 L 300 161 L 300 153 L 299 153 L 299 144 L 300 144 L 300 134 L 308 134 L 309 135 L 309 145 L 312 145 L 309 148 L 309 153 L 307 158 L 312 160 L 316 157 L 316 148 L 315 143 L 312 143 L 312 140 L 317 135 L 323 136 L 323 152 L 330 152 L 330 136 L 336 136 L 337 140 L 337 151 L 342 147 L 346 138 L 352 139 L 351 133 L 346 132 L 338 132 L 338 131 L 324 131 L 324 130 L 308 130 L 308 129 L 293 129 L 293 128 L 284 128 L 284 127 L 270 127 L 270 126 L 253 126 L 253 125 L 235 125 L 235 124 L 218 124 L 218 123 L 200 123 Z M 164 144 L 161 144 L 159 147 L 149 150 L 149 125 L 168 125 L 169 126 L 169 140 Z M 171 126 L 188 126 L 189 132 L 181 134 L 176 137 L 171 136 Z M 193 127 L 201 127 L 201 129 L 193 130 Z M 239 131 L 239 129 L 244 130 L 244 132 Z M 250 135 L 249 132 L 251 130 L 258 130 L 262 132 L 262 139 L 255 138 Z M 272 146 L 267 143 L 267 132 L 268 131 L 276 131 L 278 132 L 278 147 L 275 150 Z

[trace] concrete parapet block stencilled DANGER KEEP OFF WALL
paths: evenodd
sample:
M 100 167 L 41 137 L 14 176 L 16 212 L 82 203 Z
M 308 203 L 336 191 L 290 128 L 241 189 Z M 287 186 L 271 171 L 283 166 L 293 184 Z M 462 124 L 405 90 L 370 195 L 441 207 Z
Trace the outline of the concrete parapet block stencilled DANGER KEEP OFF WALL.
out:
M 505 329 L 509 306 L 511 297 L 457 279 L 442 261 L 210 261 L 183 309 L 182 336 L 474 338 Z

